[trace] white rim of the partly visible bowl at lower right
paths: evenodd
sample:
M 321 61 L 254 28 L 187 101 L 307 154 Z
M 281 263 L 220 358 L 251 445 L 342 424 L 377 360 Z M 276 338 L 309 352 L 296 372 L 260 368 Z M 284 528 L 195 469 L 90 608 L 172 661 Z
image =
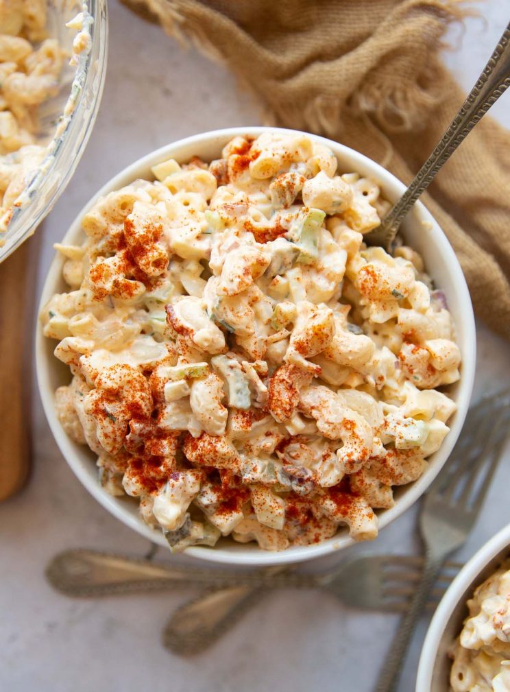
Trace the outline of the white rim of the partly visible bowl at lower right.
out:
M 479 583 L 482 583 L 482 573 L 485 567 L 487 567 L 492 560 L 498 558 L 505 549 L 510 549 L 510 524 L 500 529 L 495 536 L 475 552 L 473 557 L 466 562 L 462 570 L 460 570 L 459 574 L 457 574 L 446 590 L 437 606 L 434 617 L 432 617 L 430 621 L 424 646 L 421 648 L 416 692 L 431 692 L 432 675 L 439 653 L 439 645 L 441 644 L 444 630 L 448 626 L 454 610 L 461 602 L 465 603 L 465 599 L 471 598 L 471 590 Z M 486 576 L 489 576 L 489 574 Z M 457 635 L 459 634 L 460 629 L 457 632 Z M 445 680 L 444 692 L 450 690 L 448 683 L 449 681 Z

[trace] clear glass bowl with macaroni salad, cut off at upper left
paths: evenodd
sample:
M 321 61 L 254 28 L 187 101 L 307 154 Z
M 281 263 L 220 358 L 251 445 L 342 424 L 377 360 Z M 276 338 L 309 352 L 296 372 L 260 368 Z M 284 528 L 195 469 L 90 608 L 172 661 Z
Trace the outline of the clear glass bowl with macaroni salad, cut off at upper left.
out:
M 0 3 L 0 261 L 71 180 L 98 112 L 106 0 Z

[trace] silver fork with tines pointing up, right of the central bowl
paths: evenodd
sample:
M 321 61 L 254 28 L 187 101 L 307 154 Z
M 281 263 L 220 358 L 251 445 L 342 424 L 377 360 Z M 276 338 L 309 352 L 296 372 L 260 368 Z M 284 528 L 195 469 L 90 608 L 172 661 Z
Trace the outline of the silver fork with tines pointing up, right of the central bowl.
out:
M 508 390 L 484 399 L 468 412 L 462 436 L 448 466 L 426 495 L 419 515 L 425 545 L 424 570 L 410 608 L 388 650 L 376 692 L 397 690 L 412 632 L 430 588 L 447 556 L 463 545 L 473 528 L 498 466 L 509 423 Z

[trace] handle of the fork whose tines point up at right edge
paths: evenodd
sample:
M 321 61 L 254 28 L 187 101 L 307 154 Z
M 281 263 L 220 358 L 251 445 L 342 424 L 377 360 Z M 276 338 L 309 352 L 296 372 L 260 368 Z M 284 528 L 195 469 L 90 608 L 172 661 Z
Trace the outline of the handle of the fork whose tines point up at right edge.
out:
M 411 642 L 412 633 L 424 610 L 432 585 L 437 579 L 437 575 L 441 571 L 441 567 L 444 565 L 445 560 L 446 555 L 432 556 L 430 551 L 427 550 L 424 571 L 417 585 L 415 596 L 411 601 L 408 612 L 402 617 L 397 632 L 395 632 L 388 657 L 381 673 L 379 673 L 379 682 L 376 684 L 374 692 L 397 691 L 404 658 Z

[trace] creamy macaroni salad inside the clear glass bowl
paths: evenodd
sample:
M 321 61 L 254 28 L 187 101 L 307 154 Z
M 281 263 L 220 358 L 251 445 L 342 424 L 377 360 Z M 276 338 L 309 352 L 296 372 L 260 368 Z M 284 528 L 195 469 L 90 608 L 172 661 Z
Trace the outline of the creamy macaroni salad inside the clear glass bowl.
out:
M 90 38 L 81 25 L 81 14 L 66 25 L 78 30 L 71 64 Z M 39 107 L 59 91 L 65 57 L 58 42 L 46 37 L 46 0 L 0 1 L 0 233 L 46 154 Z

